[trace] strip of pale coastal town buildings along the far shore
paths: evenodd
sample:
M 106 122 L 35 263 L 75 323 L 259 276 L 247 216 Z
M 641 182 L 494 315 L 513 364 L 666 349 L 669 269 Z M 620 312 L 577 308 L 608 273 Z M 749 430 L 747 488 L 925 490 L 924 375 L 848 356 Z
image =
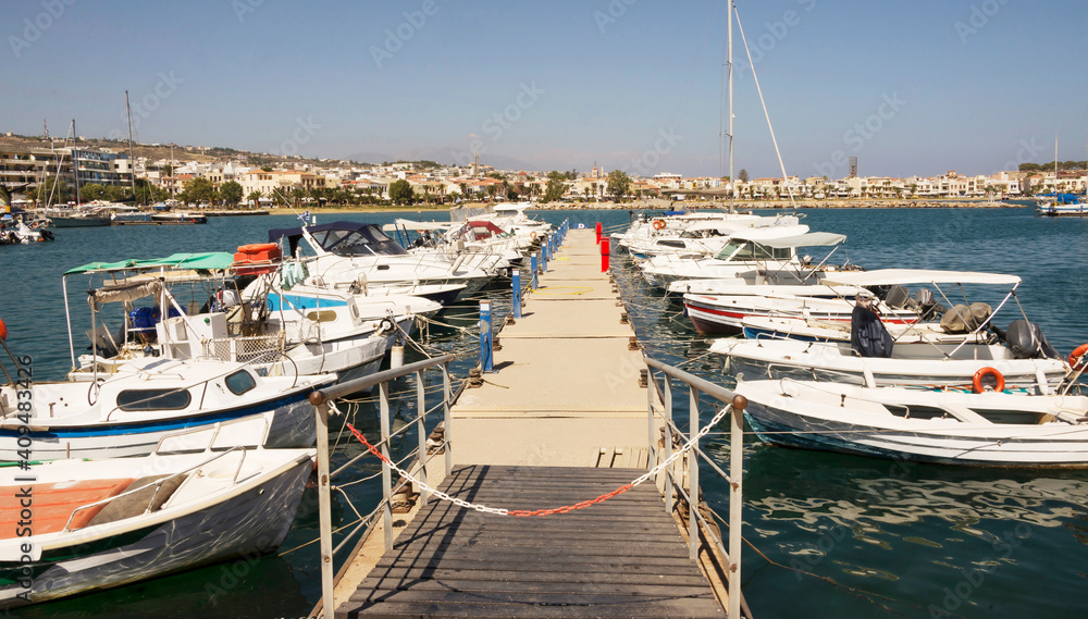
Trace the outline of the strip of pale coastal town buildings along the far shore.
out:
M 44 143 L 48 145 L 49 143 Z M 255 159 L 249 153 L 232 151 L 230 159 L 214 160 L 207 154 L 199 160 L 185 153 L 210 153 L 203 147 L 176 147 L 181 159 L 137 158 L 131 161 L 126 152 L 109 148 L 46 148 L 35 146 L 0 147 L 0 184 L 18 189 L 42 183 L 45 178 L 60 176 L 71 185 L 78 175 L 78 183 L 120 185 L 127 187 L 133 175 L 160 187 L 169 196 L 177 196 L 195 178 L 207 178 L 215 188 L 227 182 L 243 187 L 249 199 L 255 193 L 263 198 L 289 196 L 300 189 L 305 199 L 316 199 L 320 190 L 329 196 L 344 195 L 388 198 L 390 185 L 397 179 L 407 181 L 417 196 L 428 200 L 500 200 L 543 199 L 549 185 L 543 171 L 502 170 L 473 162 L 468 166 L 441 165 L 434 162 L 396 161 L 382 164 L 362 164 L 339 160 L 302 160 L 261 154 Z M 73 163 L 73 157 L 75 162 Z M 273 164 L 268 161 L 272 159 Z M 608 172 L 601 166 L 576 174 L 562 173 L 561 199 L 567 201 L 606 201 L 614 196 L 608 190 Z M 629 174 L 628 195 L 634 197 L 667 196 L 678 200 L 702 200 L 704 196 L 690 191 L 733 187 L 739 198 L 784 199 L 793 196 L 804 200 L 846 199 L 986 199 L 1015 198 L 1025 194 L 1052 191 L 1084 193 L 1088 190 L 1088 172 L 1084 170 L 1021 172 L 1003 171 L 989 175 L 964 175 L 949 170 L 936 176 L 766 176 L 749 182 L 717 176 L 688 177 L 673 172 L 650 175 Z M 683 193 L 680 193 L 683 191 Z M 321 198 L 323 199 L 323 197 Z M 330 198 L 332 199 L 332 198 Z

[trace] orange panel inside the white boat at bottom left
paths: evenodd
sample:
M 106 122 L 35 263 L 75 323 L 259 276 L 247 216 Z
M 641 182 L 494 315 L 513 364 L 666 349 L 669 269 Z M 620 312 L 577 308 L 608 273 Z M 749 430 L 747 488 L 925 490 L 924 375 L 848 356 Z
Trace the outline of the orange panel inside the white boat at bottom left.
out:
M 72 512 L 84 505 L 123 493 L 132 485 L 133 479 L 84 480 L 55 483 L 35 483 L 30 491 L 30 508 L 34 512 L 35 535 L 62 531 Z M 26 487 L 32 487 L 27 484 Z M 18 529 L 22 500 L 20 486 L 0 487 L 0 538 L 15 536 Z M 72 529 L 82 529 L 94 519 L 104 506 L 84 509 L 72 519 Z

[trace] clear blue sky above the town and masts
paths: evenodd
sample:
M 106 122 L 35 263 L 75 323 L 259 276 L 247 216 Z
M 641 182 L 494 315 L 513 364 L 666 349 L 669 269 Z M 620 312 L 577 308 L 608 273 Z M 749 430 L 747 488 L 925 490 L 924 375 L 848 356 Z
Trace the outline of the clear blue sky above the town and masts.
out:
M 1083 0 L 740 0 L 789 174 L 1085 159 Z M 722 173 L 725 3 L 4 2 L 0 131 Z M 779 175 L 735 36 L 737 170 Z

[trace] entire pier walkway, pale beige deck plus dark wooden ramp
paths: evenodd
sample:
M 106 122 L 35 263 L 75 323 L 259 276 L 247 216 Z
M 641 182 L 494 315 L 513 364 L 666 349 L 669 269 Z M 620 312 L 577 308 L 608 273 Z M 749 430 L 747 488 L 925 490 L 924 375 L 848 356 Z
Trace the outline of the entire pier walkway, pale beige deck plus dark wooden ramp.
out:
M 526 309 L 499 335 L 495 372 L 450 411 L 440 490 L 537 510 L 645 473 L 662 423 L 648 421 L 645 361 L 592 231 L 570 231 Z M 432 483 L 440 468 L 428 467 Z M 726 616 L 654 480 L 546 517 L 435 497 L 417 510 L 394 524 L 391 550 L 371 535 L 341 571 L 336 617 Z

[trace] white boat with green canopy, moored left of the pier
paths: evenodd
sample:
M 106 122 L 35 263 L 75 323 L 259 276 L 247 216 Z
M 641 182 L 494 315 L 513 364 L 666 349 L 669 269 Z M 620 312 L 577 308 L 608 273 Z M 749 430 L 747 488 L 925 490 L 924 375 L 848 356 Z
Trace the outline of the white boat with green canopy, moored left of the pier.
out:
M 88 300 L 96 312 L 104 304 L 124 306 L 124 324 L 116 338 L 107 327 L 91 334 L 94 354 L 79 356 L 69 380 L 94 381 L 148 356 L 244 362 L 261 375 L 336 373 L 341 381 L 378 369 L 388 337 L 396 331 L 393 322 L 381 323 L 386 317 L 384 311 L 397 306 L 383 304 L 381 310 L 375 309 L 383 311 L 376 317 L 345 311 L 345 321 L 330 320 L 329 312 L 313 317 L 300 310 L 273 312 L 268 289 L 262 289 L 259 299 L 249 299 L 252 302 L 240 301 L 230 276 L 233 263 L 232 255 L 212 252 L 92 263 L 65 273 L 65 277 L 87 274 L 92 281 L 101 277 L 115 282 L 91 288 Z M 186 288 L 190 299 L 208 300 L 202 307 L 200 300 L 180 300 L 178 294 Z M 137 306 L 140 300 L 151 305 Z M 421 310 L 435 310 L 430 301 L 417 301 Z M 351 322 L 351 318 L 356 320 Z M 410 327 L 410 320 L 404 320 Z M 380 330 L 384 331 L 378 333 Z M 109 352 L 99 356 L 100 348 Z

